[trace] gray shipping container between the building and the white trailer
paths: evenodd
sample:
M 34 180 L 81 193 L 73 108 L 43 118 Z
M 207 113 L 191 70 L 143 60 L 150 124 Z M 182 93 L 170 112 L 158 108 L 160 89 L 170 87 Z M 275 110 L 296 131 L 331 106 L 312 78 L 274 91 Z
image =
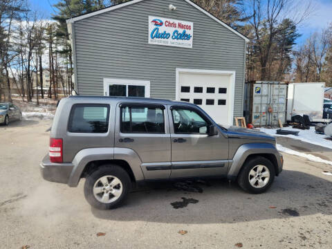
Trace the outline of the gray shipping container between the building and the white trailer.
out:
M 245 87 L 244 110 L 248 123 L 256 127 L 277 126 L 286 122 L 287 84 L 249 82 Z

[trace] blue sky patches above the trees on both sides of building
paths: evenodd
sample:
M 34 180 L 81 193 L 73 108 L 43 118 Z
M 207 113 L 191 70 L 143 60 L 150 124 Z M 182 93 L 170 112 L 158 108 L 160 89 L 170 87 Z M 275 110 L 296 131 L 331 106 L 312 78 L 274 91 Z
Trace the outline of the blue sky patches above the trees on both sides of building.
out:
M 45 18 L 50 18 L 55 9 L 53 4 L 58 0 L 29 0 L 34 10 L 40 10 Z M 302 0 L 304 3 L 309 0 Z M 310 35 L 316 31 L 326 28 L 332 23 L 332 0 L 311 0 L 313 2 L 313 12 L 299 27 L 299 33 L 302 37 L 297 39 L 297 44 L 302 44 Z

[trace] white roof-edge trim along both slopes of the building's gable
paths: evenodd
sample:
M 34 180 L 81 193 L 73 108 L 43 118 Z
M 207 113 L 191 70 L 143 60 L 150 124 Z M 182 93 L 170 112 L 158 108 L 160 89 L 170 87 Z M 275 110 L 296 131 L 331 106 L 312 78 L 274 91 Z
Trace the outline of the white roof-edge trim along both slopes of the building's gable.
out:
M 129 6 L 131 4 L 135 4 L 135 3 L 139 3 L 141 1 L 145 1 L 145 0 L 131 0 L 131 1 L 127 1 L 125 3 L 120 3 L 120 4 L 117 4 L 115 6 L 110 6 L 108 8 L 104 8 L 102 10 L 96 10 L 94 12 L 90 12 L 90 13 L 87 13 L 87 14 L 83 14 L 83 15 L 79 15 L 77 17 L 71 17 L 69 19 L 66 19 L 66 23 L 74 23 L 75 21 L 80 21 L 82 19 L 86 19 L 86 18 L 89 18 L 89 17 L 93 17 L 95 15 L 100 15 L 104 12 L 109 12 L 111 10 L 116 10 L 118 8 L 122 8 L 122 7 L 125 7 L 125 6 Z M 201 12 L 203 12 L 205 15 L 207 15 L 208 17 L 214 19 L 214 21 L 218 22 L 219 24 L 221 24 L 223 27 L 227 28 L 228 30 L 230 30 L 232 33 L 234 33 L 235 35 L 238 35 L 239 37 L 241 37 L 242 39 L 245 40 L 245 42 L 249 42 L 249 39 L 248 37 L 246 37 L 245 35 L 242 35 L 241 33 L 239 33 L 239 31 L 237 30 L 234 30 L 234 28 L 228 26 L 227 24 L 225 24 L 223 21 L 221 21 L 220 19 L 214 17 L 214 15 L 210 14 L 207 10 L 204 10 L 203 8 L 201 8 L 200 6 L 198 6 L 196 3 L 194 3 L 193 1 L 191 0 L 184 0 L 186 1 L 187 3 L 189 3 L 191 6 L 193 6 L 194 8 L 200 10 Z

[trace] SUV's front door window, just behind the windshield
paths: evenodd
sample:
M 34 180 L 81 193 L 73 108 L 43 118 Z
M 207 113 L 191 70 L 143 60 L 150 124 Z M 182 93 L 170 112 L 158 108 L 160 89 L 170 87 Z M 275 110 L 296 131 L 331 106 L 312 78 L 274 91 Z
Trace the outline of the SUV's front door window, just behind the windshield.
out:
M 175 133 L 200 133 L 209 131 L 210 123 L 199 113 L 190 109 L 172 109 Z

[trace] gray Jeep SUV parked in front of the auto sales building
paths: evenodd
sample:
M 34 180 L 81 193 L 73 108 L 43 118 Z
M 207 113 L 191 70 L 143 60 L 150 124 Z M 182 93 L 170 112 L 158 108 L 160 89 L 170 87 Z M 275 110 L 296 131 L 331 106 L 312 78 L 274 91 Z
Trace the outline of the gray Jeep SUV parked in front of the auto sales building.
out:
M 259 194 L 282 172 L 275 138 L 216 124 L 195 104 L 75 96 L 59 102 L 42 176 L 76 187 L 95 208 L 116 208 L 131 185 L 226 177 Z

